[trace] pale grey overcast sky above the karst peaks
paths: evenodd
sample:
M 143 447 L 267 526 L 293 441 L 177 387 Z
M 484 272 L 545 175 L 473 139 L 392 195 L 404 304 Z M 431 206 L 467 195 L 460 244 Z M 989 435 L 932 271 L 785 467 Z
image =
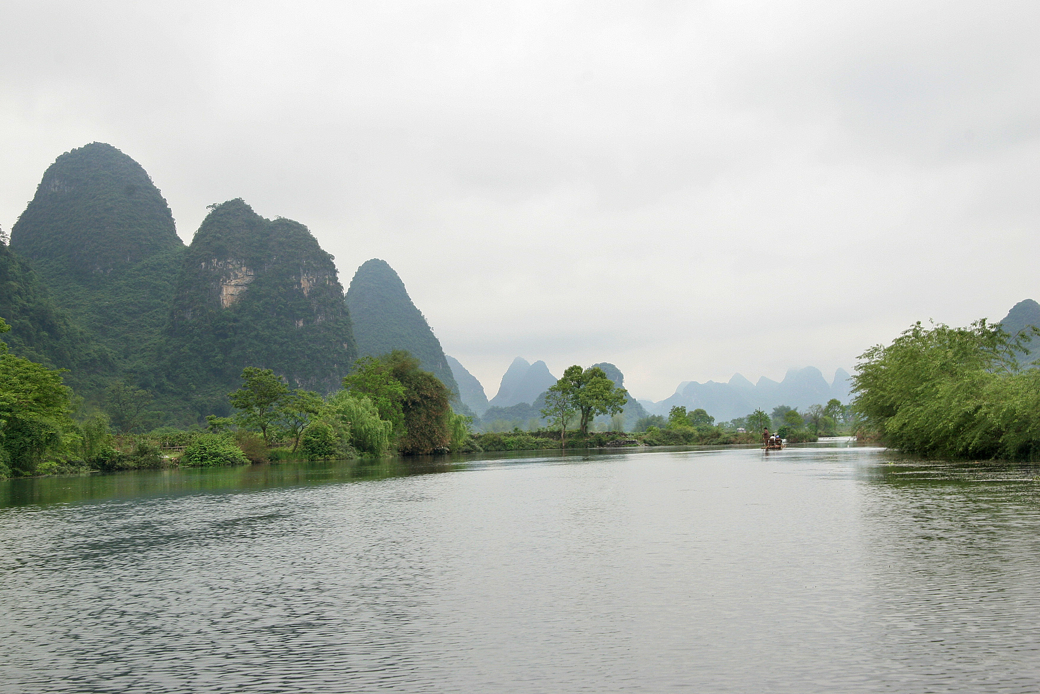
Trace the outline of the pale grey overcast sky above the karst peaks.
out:
M 243 198 L 516 356 L 830 377 L 1040 299 L 1040 3 L 0 2 L 0 225 L 62 152 Z

